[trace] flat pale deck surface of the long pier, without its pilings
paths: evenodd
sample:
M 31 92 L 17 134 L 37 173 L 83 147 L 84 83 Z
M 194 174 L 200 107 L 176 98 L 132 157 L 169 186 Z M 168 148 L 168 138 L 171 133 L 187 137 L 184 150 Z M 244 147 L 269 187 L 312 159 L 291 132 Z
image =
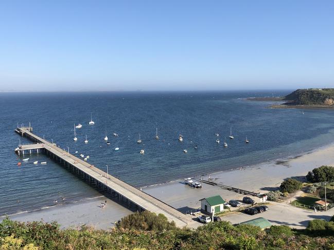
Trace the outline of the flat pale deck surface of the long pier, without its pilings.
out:
M 30 146 L 31 148 L 37 147 L 37 145 L 39 148 L 41 146 L 45 150 L 52 153 L 54 156 L 60 158 L 68 164 L 71 164 L 84 174 L 90 176 L 91 178 L 94 178 L 96 181 L 114 190 L 117 194 L 127 198 L 129 201 L 136 204 L 137 206 L 145 210 L 149 210 L 155 214 L 163 214 L 167 217 L 169 221 L 174 221 L 176 225 L 181 227 L 186 226 L 188 223 L 191 222 L 191 218 L 181 213 L 179 210 L 171 207 L 170 205 L 164 203 L 159 199 L 156 199 L 146 194 L 145 192 L 131 186 L 130 184 L 117 179 L 112 175 L 107 175 L 107 173 L 102 171 L 101 169 L 57 147 L 55 143 L 52 144 L 46 140 L 43 140 L 43 138 L 36 136 L 36 134 L 33 134 L 26 128 L 16 128 L 16 130 L 16 132 L 20 133 L 22 136 L 26 136 L 32 141 L 38 143 L 32 144 Z M 26 150 L 29 150 L 29 146 L 22 146 L 24 146 Z

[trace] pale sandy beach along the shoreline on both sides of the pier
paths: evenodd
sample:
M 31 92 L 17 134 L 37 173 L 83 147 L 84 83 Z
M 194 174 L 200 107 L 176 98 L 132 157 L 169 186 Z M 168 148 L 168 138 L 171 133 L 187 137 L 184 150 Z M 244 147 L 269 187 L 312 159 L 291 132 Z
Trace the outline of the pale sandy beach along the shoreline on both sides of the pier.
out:
M 333 152 L 334 144 L 331 144 L 286 160 L 276 160 L 242 167 L 241 170 L 216 172 L 215 174 L 210 174 L 210 178 L 214 182 L 263 194 L 278 187 L 286 178 L 298 177 L 303 179 L 307 172 L 314 167 L 321 165 L 333 166 Z M 208 176 L 203 176 L 202 178 L 207 180 Z M 190 188 L 183 183 L 183 180 L 143 187 L 142 189 L 181 211 L 199 208 L 199 200 L 205 197 L 220 195 L 226 201 L 242 199 L 243 197 L 243 195 L 233 191 L 208 184 L 203 184 L 202 189 Z M 108 200 L 108 205 L 105 208 L 101 208 L 99 206 L 100 202 L 104 200 Z M 105 197 L 99 197 L 88 201 L 13 215 L 10 218 L 18 221 L 41 219 L 44 221 L 57 221 L 63 228 L 86 224 L 100 229 L 108 229 L 114 226 L 115 221 L 131 213 L 132 211 L 126 207 Z M 327 214 L 333 213 L 334 211 L 328 211 Z

